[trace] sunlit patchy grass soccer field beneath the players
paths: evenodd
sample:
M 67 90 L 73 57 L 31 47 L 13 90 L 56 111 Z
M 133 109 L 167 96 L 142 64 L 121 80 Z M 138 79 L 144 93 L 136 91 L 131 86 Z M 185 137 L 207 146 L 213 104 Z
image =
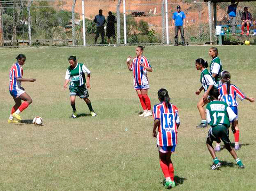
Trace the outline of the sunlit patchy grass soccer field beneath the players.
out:
M 149 73 L 149 97 L 158 103 L 157 91 L 166 88 L 178 106 L 181 126 L 172 155 L 175 190 L 255 190 L 255 103 L 239 101 L 241 149 L 238 157 L 246 169 L 238 169 L 227 150 L 217 153 L 223 162 L 211 171 L 212 159 L 205 145 L 208 129 L 200 122 L 196 104 L 200 96 L 200 72 L 194 60 L 210 61 L 209 46 L 152 46 L 144 53 L 153 67 Z M 218 47 L 231 82 L 246 95 L 256 97 L 256 46 Z M 24 53 L 23 87 L 33 103 L 22 114 L 26 122 L 35 116 L 44 125 L 7 124 L 14 104 L 9 94 L 9 69 Z M 90 99 L 97 117 L 77 98 L 81 117 L 71 119 L 68 90 L 63 91 L 68 56 L 91 70 Z M 0 190 L 164 190 L 152 118 L 139 118 L 142 110 L 133 90 L 126 56 L 135 47 L 0 49 Z M 248 59 L 245 59 L 248 58 Z M 230 131 L 230 140 L 233 134 Z

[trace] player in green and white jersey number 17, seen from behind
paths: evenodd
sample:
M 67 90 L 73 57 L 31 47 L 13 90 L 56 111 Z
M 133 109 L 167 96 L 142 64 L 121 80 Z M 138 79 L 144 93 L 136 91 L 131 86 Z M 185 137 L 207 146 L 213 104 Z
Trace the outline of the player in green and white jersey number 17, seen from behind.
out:
M 224 142 L 225 148 L 230 152 L 234 160 L 240 169 L 244 169 L 242 161 L 237 157 L 236 151 L 230 146 L 230 140 L 228 138 L 228 128 L 230 122 L 232 122 L 237 115 L 224 101 L 219 101 L 219 91 L 212 89 L 210 91 L 211 102 L 206 106 L 207 122 L 211 125 L 208 136 L 206 139 L 206 145 L 213 158 L 212 170 L 221 167 L 219 159 L 216 157 L 216 153 L 212 146 L 213 141 L 220 143 L 220 139 Z

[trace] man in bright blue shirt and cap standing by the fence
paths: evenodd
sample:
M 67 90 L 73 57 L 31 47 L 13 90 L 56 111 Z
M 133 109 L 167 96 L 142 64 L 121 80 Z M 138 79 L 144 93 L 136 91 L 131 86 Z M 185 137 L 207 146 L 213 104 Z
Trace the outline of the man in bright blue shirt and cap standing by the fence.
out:
M 181 32 L 181 41 L 182 46 L 185 46 L 185 38 L 184 38 L 184 28 L 183 28 L 183 19 L 184 19 L 184 28 L 186 26 L 186 16 L 183 11 L 181 11 L 181 6 L 177 6 L 177 12 L 173 13 L 172 16 L 172 28 L 175 28 L 175 46 L 178 45 L 178 30 Z M 175 25 L 174 25 L 175 22 Z

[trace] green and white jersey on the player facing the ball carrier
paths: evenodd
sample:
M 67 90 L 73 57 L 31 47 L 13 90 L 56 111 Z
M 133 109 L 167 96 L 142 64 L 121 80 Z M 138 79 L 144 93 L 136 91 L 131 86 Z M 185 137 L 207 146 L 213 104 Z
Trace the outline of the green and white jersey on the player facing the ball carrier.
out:
M 77 63 L 74 69 L 69 66 L 65 76 L 66 80 L 70 80 L 69 87 L 84 85 L 86 83 L 85 73 L 90 74 L 91 71 L 83 63 Z

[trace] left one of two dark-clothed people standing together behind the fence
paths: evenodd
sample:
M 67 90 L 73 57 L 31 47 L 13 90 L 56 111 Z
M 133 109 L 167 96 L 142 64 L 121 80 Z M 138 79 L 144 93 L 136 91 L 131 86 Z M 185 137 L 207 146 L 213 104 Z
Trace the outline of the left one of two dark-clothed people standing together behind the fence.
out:
M 95 41 L 94 44 L 97 43 L 97 39 L 99 35 L 101 36 L 101 44 L 104 44 L 104 36 L 105 36 L 105 31 L 104 31 L 104 24 L 106 23 L 105 16 L 102 15 L 102 9 L 99 10 L 99 14 L 95 16 L 94 22 L 96 23 L 96 36 L 95 36 Z

